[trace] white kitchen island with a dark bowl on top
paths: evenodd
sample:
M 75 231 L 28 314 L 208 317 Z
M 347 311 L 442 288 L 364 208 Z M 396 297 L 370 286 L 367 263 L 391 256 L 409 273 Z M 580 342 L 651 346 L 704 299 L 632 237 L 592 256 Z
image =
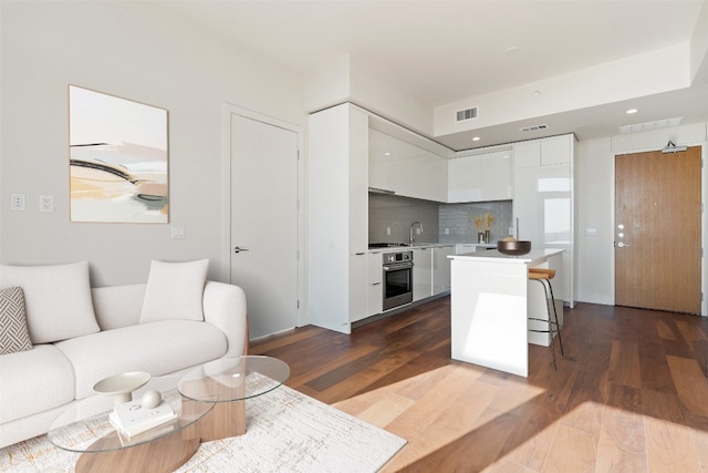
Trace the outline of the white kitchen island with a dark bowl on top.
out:
M 540 284 L 531 267 L 562 271 L 562 249 L 507 256 L 497 250 L 449 256 L 451 261 L 452 359 L 528 377 L 529 346 L 549 346 L 548 333 L 529 332 L 529 316 L 548 319 Z M 556 295 L 558 296 L 558 295 Z M 552 310 L 552 309 L 551 309 Z M 559 322 L 563 302 L 556 299 Z M 544 329 L 545 323 L 538 328 Z

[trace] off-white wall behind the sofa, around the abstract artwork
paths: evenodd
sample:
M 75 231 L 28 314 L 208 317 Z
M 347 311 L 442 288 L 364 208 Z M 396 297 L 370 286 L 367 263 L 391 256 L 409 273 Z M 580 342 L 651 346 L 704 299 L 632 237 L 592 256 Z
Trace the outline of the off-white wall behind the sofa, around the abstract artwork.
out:
M 221 107 L 304 125 L 294 72 L 183 20 L 159 2 L 8 2 L 1 16 L 0 263 L 86 259 L 96 286 L 146 280 L 150 259 L 210 258 L 219 279 Z M 69 222 L 67 84 L 169 111 L 169 225 Z M 10 193 L 27 195 L 10 212 Z M 40 214 L 39 195 L 54 197 Z M 254 200 L 257 202 L 257 200 Z

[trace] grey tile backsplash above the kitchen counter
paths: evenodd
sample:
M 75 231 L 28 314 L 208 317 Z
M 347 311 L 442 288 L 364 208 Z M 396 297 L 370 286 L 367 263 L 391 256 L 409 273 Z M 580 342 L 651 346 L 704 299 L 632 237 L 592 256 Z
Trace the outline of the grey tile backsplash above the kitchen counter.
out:
M 488 213 L 494 217 L 490 241 L 509 236 L 513 226 L 511 200 L 471 204 L 437 204 L 433 202 L 369 194 L 369 243 L 408 243 L 413 222 L 423 223 L 420 243 L 477 243 L 475 217 Z M 448 230 L 446 233 L 446 229 Z

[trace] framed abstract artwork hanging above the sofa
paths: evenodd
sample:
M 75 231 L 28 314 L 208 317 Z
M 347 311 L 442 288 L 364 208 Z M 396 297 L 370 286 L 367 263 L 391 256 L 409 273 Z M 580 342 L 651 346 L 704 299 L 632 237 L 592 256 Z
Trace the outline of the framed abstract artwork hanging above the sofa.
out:
M 169 223 L 167 110 L 69 86 L 71 222 Z

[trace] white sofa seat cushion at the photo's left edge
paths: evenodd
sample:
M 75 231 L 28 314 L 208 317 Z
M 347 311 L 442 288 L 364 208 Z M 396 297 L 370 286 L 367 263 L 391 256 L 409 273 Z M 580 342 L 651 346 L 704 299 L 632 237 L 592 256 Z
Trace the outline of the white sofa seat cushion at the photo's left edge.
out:
M 0 424 L 74 400 L 74 370 L 53 345 L 0 357 Z

